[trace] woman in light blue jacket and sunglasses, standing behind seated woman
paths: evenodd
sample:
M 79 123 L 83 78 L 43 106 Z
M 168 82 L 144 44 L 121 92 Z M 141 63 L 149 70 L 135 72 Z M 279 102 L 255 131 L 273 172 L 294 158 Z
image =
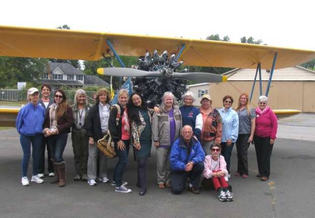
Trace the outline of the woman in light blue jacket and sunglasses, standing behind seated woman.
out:
M 233 97 L 226 95 L 223 98 L 223 106 L 219 112 L 222 117 L 222 155 L 227 163 L 227 170 L 230 176 L 230 162 L 234 143 L 238 137 L 238 115 L 232 109 Z

